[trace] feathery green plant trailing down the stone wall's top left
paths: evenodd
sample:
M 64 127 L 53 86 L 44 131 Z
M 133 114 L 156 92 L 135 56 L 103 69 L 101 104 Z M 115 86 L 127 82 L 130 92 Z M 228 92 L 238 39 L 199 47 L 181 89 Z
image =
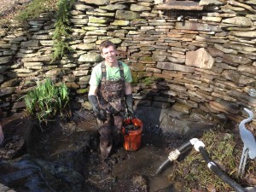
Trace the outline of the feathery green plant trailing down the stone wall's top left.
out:
M 55 61 L 59 57 L 66 55 L 67 50 L 73 50 L 67 43 L 67 39 L 70 38 L 68 20 L 68 10 L 72 7 L 73 0 L 59 0 L 58 11 L 55 22 L 55 32 L 53 35 L 54 40 L 54 52 L 52 54 L 52 61 Z

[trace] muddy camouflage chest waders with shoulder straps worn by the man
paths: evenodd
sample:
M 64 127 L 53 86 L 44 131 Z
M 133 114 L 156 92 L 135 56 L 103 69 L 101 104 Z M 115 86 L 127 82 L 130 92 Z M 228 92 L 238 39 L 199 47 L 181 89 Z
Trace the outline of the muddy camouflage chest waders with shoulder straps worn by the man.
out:
M 102 80 L 97 92 L 100 108 L 107 111 L 107 120 L 99 127 L 102 158 L 108 158 L 114 144 L 122 142 L 121 129 L 125 112 L 125 75 L 120 62 L 120 79 L 107 80 L 105 62 L 102 62 Z

